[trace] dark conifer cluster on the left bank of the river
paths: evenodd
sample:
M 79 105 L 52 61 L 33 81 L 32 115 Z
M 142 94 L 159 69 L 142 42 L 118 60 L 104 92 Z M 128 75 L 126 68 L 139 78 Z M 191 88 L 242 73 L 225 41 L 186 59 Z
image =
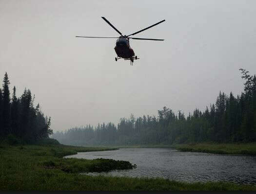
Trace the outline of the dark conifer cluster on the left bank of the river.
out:
M 0 88 L 0 140 L 11 136 L 21 142 L 33 143 L 48 138 L 53 133 L 51 118 L 44 116 L 39 104 L 34 107 L 35 95 L 32 97 L 31 91 L 25 88 L 18 98 L 14 87 L 11 96 L 9 84 L 5 72 Z

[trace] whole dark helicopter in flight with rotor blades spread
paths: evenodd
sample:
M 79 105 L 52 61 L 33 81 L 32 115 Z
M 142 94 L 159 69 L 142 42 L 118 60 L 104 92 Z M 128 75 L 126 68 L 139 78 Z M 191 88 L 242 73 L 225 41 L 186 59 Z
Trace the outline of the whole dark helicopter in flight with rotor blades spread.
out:
M 135 53 L 133 51 L 133 49 L 130 47 L 130 41 L 129 39 L 136 39 L 136 40 L 161 40 L 163 41 L 164 39 L 153 39 L 153 38 L 136 38 L 136 37 L 129 37 L 131 35 L 136 35 L 144 30 L 147 30 L 149 28 L 152 28 L 153 26 L 158 25 L 159 23 L 162 23 L 165 21 L 161 20 L 156 24 L 153 24 L 147 28 L 144 28 L 138 32 L 135 32 L 133 34 L 130 35 L 122 35 L 122 33 L 120 33 L 118 31 L 118 29 L 116 29 L 106 18 L 101 17 L 102 19 L 104 19 L 115 31 L 118 32 L 119 37 L 99 37 L 99 36 L 76 36 L 76 37 L 82 37 L 82 38 L 118 38 L 116 41 L 116 46 L 115 46 L 115 52 L 117 53 L 117 57 L 115 57 L 115 60 L 118 61 L 118 59 L 123 58 L 124 60 L 130 60 L 131 62 L 131 66 L 133 65 L 134 60 L 139 59 L 137 56 L 135 56 Z

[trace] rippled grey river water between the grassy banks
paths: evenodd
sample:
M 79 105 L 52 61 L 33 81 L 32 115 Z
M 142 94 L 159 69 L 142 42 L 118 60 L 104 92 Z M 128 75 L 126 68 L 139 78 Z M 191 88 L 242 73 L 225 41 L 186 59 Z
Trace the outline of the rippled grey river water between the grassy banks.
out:
M 114 170 L 87 175 L 162 177 L 185 182 L 227 181 L 256 184 L 256 157 L 197 152 L 172 148 L 120 148 L 100 152 L 79 152 L 65 158 L 115 159 L 136 164 L 130 170 Z

